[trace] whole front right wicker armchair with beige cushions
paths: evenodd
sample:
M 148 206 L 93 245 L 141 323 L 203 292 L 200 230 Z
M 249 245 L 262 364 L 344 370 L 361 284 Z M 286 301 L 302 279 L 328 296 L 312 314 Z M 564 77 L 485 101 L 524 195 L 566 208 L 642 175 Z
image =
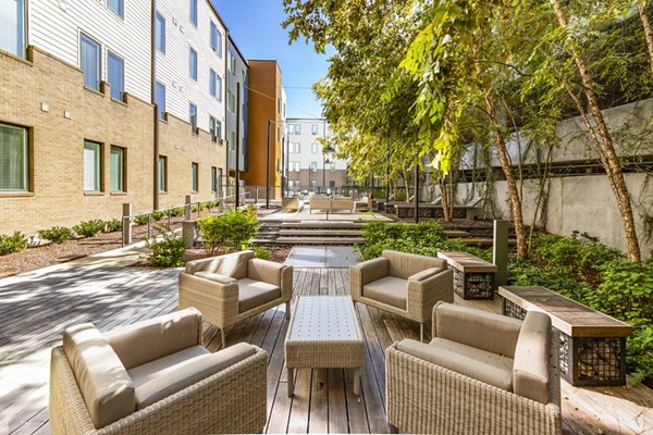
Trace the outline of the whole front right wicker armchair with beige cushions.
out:
M 430 344 L 385 351 L 387 422 L 407 433 L 559 434 L 554 331 L 534 311 L 521 322 L 439 303 Z

